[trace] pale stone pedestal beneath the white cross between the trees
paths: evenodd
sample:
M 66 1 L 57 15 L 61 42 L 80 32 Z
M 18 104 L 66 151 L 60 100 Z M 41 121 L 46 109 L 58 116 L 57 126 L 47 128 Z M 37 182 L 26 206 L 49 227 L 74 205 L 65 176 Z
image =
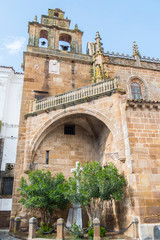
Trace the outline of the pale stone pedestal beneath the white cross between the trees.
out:
M 67 218 L 67 227 L 75 223 L 79 228 L 82 228 L 82 208 L 79 203 L 73 204 L 73 208 L 69 209 L 68 218 Z

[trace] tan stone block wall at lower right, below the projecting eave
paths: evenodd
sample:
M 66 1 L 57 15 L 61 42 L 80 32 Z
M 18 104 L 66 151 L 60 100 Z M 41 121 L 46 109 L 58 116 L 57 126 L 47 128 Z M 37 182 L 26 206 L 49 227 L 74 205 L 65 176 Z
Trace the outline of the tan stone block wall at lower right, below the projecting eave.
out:
M 141 223 L 160 221 L 160 111 L 149 105 L 127 108 L 132 158 L 132 197 Z

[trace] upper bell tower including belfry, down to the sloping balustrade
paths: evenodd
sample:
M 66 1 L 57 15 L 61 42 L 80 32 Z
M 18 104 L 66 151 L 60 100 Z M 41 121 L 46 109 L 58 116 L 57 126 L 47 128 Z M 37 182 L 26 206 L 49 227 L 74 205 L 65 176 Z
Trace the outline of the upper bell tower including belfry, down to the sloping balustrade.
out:
M 82 54 L 83 32 L 58 8 L 37 16 L 28 24 L 29 40 L 24 52 L 24 96 L 28 100 L 61 94 L 91 83 L 91 56 Z M 28 112 L 29 108 L 25 112 Z

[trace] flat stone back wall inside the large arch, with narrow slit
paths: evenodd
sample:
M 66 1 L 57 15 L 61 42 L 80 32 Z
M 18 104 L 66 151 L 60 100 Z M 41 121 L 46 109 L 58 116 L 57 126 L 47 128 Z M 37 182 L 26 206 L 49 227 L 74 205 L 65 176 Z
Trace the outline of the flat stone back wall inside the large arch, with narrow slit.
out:
M 49 151 L 49 163 L 46 164 L 46 151 Z M 93 135 L 76 125 L 75 135 L 64 134 L 64 124 L 50 132 L 42 141 L 35 153 L 34 163 L 38 169 L 50 170 L 52 174 L 63 172 L 68 178 L 73 176 L 71 168 L 75 168 L 76 161 L 95 161 Z

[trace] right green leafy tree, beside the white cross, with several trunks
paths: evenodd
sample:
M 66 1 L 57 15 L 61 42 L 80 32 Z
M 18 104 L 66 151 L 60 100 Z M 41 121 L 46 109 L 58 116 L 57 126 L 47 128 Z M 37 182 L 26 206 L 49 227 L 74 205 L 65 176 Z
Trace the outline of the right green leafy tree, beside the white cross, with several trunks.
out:
M 86 209 L 92 223 L 95 217 L 102 218 L 104 201 L 123 199 L 125 179 L 113 163 L 103 168 L 100 162 L 89 162 L 82 169 L 79 165 L 69 178 L 66 194 L 71 203 L 80 203 Z

